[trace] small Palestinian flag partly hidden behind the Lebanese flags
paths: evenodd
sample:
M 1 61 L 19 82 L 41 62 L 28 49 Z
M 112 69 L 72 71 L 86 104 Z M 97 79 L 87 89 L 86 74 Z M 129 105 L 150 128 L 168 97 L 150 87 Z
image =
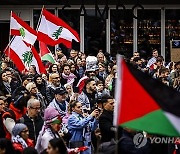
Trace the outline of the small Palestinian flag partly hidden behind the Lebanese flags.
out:
M 50 63 L 54 64 L 55 60 L 54 57 L 44 42 L 39 41 L 39 49 L 40 49 L 40 57 L 41 60 L 49 61 Z

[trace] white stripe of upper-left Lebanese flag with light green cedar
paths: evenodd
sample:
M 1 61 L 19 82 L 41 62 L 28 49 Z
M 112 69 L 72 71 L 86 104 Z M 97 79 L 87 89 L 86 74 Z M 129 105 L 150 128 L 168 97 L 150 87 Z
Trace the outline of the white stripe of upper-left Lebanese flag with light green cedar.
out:
M 25 37 L 22 37 L 22 39 L 33 45 L 37 39 L 37 36 L 30 33 L 26 28 L 24 28 L 22 25 L 20 25 L 16 19 L 14 19 L 13 17 L 11 17 L 11 23 L 10 23 L 10 29 L 11 30 L 19 30 L 20 28 L 23 28 L 24 29 L 24 32 L 25 32 Z

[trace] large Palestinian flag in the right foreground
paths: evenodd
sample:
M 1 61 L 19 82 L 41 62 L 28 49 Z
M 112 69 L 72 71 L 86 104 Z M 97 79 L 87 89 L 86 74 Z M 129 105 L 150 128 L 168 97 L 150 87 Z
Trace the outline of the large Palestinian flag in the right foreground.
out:
M 180 93 L 117 59 L 114 124 L 150 134 L 180 135 Z

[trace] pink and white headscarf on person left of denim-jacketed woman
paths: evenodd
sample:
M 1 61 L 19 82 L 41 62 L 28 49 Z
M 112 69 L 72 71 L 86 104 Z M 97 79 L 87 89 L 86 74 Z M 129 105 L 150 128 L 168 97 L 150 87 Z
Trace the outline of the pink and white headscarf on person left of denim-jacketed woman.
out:
M 44 120 L 46 124 L 52 123 L 54 120 L 60 118 L 59 112 L 53 107 L 48 107 L 44 111 Z

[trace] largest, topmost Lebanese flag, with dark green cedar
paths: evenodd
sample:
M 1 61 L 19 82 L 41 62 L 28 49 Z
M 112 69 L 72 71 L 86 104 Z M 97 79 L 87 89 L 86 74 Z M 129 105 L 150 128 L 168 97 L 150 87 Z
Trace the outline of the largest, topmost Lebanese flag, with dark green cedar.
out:
M 76 42 L 80 41 L 79 35 L 74 29 L 44 8 L 37 31 L 38 40 L 51 46 L 63 43 L 67 48 L 71 48 L 73 39 Z

